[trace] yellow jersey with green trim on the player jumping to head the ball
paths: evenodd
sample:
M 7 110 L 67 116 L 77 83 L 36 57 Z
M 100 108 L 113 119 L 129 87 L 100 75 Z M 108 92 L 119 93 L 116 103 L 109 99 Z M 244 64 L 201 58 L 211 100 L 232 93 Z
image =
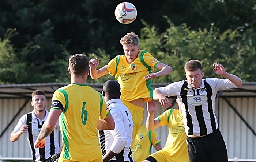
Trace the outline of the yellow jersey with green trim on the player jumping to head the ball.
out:
M 115 75 L 121 86 L 121 99 L 127 102 L 144 98 L 144 102 L 153 97 L 151 79 L 145 80 L 144 76 L 150 74 L 159 63 L 150 53 L 140 50 L 137 58 L 129 64 L 125 55 L 118 55 L 110 60 L 105 68 L 111 76 Z

